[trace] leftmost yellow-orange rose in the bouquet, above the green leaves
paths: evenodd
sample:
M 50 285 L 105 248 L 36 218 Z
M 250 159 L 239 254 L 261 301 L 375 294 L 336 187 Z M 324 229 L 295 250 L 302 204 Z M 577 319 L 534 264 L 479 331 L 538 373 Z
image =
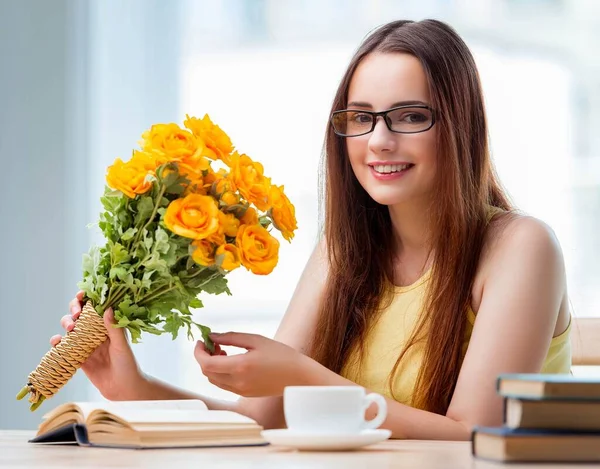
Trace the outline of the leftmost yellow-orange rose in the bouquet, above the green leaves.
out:
M 127 163 L 117 158 L 108 168 L 106 183 L 129 198 L 145 194 L 152 187 L 152 181 L 147 176 L 155 174 L 156 164 L 151 156 L 143 152 L 134 152 Z

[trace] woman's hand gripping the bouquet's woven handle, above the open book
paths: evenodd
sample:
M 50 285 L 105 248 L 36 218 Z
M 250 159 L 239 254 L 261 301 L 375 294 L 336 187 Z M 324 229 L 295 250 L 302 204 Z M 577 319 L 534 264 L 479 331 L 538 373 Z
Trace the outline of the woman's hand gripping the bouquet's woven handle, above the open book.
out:
M 71 314 L 62 317 L 60 324 L 67 331 L 77 327 L 77 318 L 83 306 L 83 292 L 69 303 Z M 140 371 L 135 356 L 129 346 L 125 330 L 116 328 L 112 308 L 104 312 L 104 325 L 108 333 L 107 340 L 102 343 L 81 365 L 81 369 L 98 388 L 102 396 L 113 401 L 141 399 L 145 376 Z M 55 335 L 50 339 L 54 347 L 62 337 Z

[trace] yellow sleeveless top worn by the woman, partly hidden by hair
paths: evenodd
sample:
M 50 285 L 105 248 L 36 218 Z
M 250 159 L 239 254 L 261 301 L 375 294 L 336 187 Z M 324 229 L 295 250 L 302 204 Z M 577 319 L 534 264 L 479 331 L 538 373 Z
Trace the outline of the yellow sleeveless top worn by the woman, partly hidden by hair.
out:
M 491 218 L 491 216 L 490 216 Z M 394 374 L 394 394 L 390 393 L 389 376 L 404 345 L 416 327 L 425 301 L 430 271 L 409 286 L 394 287 L 394 297 L 388 308 L 381 312 L 377 321 L 370 325 L 364 343 L 364 355 L 358 362 L 358 349 L 350 353 L 341 375 L 366 389 L 396 398 L 411 405 L 413 390 L 423 361 L 425 341 L 413 345 L 400 362 Z M 471 339 L 475 313 L 467 311 L 467 327 L 463 339 L 463 358 Z M 571 323 L 550 343 L 542 373 L 570 373 L 571 369 Z

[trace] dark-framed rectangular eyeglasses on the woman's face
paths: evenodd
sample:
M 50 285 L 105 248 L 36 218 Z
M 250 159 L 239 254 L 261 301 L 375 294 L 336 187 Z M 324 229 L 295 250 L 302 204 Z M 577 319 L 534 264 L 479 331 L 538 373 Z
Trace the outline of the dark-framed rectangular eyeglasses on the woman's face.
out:
M 433 109 L 425 105 L 400 106 L 387 111 L 344 109 L 331 114 L 331 125 L 340 137 L 358 137 L 373 132 L 377 117 L 382 116 L 391 132 L 416 134 L 425 132 L 435 123 Z

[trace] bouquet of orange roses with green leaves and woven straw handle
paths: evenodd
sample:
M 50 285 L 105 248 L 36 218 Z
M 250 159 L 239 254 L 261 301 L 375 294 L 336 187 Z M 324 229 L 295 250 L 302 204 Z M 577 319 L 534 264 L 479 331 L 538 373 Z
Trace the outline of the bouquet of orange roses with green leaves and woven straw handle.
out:
M 142 332 L 196 326 L 209 350 L 210 328 L 192 320 L 201 293 L 228 295 L 226 276 L 242 266 L 257 275 L 279 258 L 274 227 L 287 241 L 296 230 L 294 206 L 260 163 L 234 150 L 208 116 L 186 116 L 184 128 L 156 124 L 131 159 L 107 172 L 99 227 L 106 243 L 83 259 L 84 308 L 76 327 L 42 358 L 17 395 L 31 410 L 52 397 L 106 340 L 110 306 L 132 342 Z

